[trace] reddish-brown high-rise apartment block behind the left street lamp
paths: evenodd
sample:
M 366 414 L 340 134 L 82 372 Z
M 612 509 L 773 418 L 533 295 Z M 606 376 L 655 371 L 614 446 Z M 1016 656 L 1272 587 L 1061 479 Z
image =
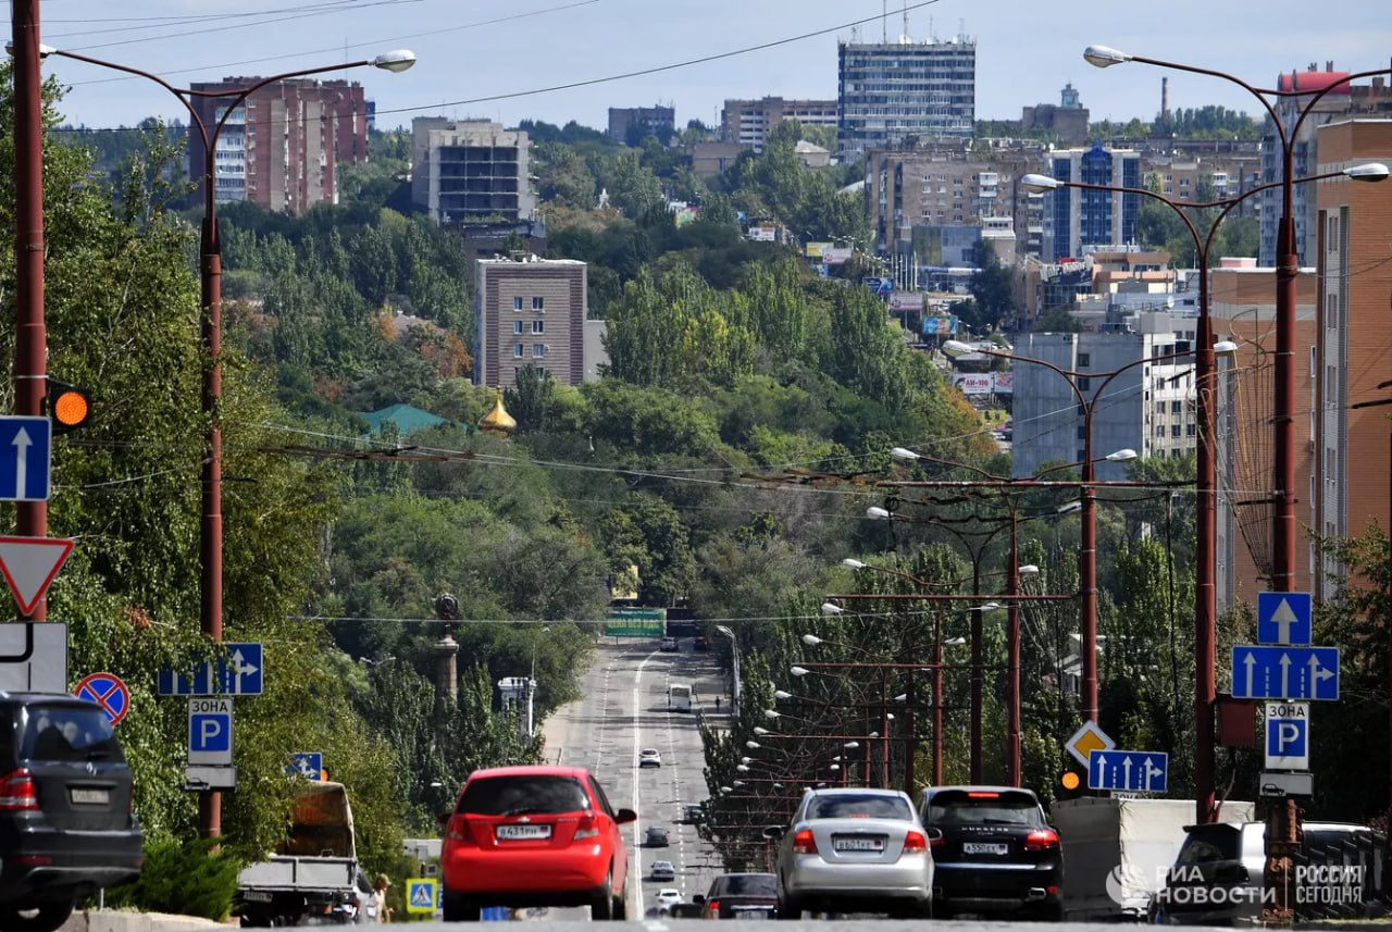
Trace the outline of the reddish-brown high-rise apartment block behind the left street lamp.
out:
M 228 97 L 260 78 L 224 78 L 191 86 L 205 127 L 227 113 Z M 226 96 L 219 96 L 226 95 Z M 213 196 L 249 200 L 266 210 L 299 214 L 316 203 L 338 203 L 338 168 L 367 160 L 369 102 L 362 85 L 295 78 L 258 88 L 237 104 L 213 147 Z M 188 177 L 202 186 L 207 149 L 188 135 Z M 202 191 L 193 195 L 200 199 Z

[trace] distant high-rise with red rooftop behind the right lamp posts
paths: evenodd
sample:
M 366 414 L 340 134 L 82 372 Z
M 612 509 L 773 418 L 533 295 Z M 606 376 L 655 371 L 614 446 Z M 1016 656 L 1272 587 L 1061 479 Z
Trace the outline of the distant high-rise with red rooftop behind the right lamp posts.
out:
M 1385 61 L 1382 63 L 1386 64 Z M 1290 71 L 1276 78 L 1276 88 L 1283 92 L 1293 92 L 1292 96 L 1279 97 L 1274 102 L 1276 114 L 1286 132 L 1295 129 L 1300 111 L 1311 107 L 1313 95 L 1328 92 L 1313 103 L 1308 115 L 1300 122 L 1300 131 L 1290 143 L 1292 177 L 1308 178 L 1321 161 L 1318 154 L 1320 127 L 1327 122 L 1340 122 L 1353 117 L 1388 117 L 1392 115 L 1392 88 L 1386 78 L 1373 78 L 1371 85 L 1353 85 L 1347 82 L 1347 71 L 1335 71 L 1334 63 L 1327 61 L 1324 70 L 1318 70 L 1315 63 L 1304 71 Z M 1271 117 L 1267 117 L 1261 136 L 1261 181 L 1281 181 L 1282 147 L 1281 135 Z M 1281 221 L 1281 189 L 1267 191 L 1257 195 L 1261 199 L 1261 246 L 1257 257 L 1263 266 L 1276 264 L 1276 227 Z M 1313 185 L 1297 184 L 1292 189 L 1292 213 L 1296 221 L 1296 255 L 1300 266 L 1314 264 L 1313 241 L 1318 230 L 1315 213 L 1317 193 Z

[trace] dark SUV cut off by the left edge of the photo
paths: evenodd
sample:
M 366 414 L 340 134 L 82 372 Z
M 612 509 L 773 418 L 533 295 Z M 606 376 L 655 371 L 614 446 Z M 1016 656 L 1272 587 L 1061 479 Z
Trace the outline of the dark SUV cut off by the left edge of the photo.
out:
M 102 707 L 0 691 L 0 929 L 57 929 L 78 900 L 141 875 L 142 843 Z

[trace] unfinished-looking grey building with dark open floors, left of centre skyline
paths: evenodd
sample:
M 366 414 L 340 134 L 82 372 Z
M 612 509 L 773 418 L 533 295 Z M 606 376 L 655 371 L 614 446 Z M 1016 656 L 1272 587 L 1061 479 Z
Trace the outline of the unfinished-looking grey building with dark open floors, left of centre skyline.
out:
M 416 117 L 411 159 L 411 203 L 443 227 L 533 216 L 526 132 L 487 120 Z

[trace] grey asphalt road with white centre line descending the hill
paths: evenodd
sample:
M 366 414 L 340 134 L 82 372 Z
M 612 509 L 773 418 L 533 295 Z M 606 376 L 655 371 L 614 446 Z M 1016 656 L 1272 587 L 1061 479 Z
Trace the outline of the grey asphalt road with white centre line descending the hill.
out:
M 656 906 L 661 887 L 675 887 L 682 901 L 704 893 L 724 868 L 696 826 L 682 825 L 682 807 L 706 798 L 697 722 L 714 711 L 721 673 L 713 654 L 692 651 L 690 638 L 677 652 L 661 652 L 657 640 L 606 638 L 585 677 L 583 698 L 558 709 L 543 728 L 546 760 L 589 768 L 599 778 L 614 808 L 632 808 L 638 822 L 625 826 L 629 851 L 629 918 L 643 918 Z M 667 684 L 693 683 L 692 712 L 667 709 Z M 721 696 L 727 708 L 728 696 Z M 654 747 L 661 766 L 638 766 L 640 748 Z M 668 829 L 667 847 L 643 844 L 647 828 Z M 653 881 L 653 861 L 671 861 L 675 881 Z M 551 910 L 553 919 L 583 919 L 586 910 Z

